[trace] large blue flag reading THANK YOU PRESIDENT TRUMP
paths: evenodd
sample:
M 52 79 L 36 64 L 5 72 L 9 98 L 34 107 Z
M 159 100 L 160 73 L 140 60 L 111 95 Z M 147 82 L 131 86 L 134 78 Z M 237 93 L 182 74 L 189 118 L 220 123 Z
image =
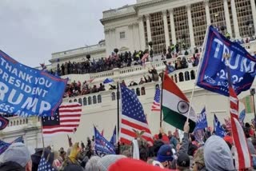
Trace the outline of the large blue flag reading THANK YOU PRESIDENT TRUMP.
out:
M 0 113 L 21 117 L 54 115 L 66 82 L 24 66 L 0 50 Z

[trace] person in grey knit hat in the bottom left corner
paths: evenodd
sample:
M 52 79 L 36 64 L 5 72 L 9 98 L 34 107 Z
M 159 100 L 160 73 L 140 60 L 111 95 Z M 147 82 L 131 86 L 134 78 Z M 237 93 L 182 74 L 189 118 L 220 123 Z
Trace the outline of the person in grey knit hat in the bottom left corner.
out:
M 31 171 L 30 151 L 21 142 L 13 143 L 4 153 L 0 161 L 1 171 Z

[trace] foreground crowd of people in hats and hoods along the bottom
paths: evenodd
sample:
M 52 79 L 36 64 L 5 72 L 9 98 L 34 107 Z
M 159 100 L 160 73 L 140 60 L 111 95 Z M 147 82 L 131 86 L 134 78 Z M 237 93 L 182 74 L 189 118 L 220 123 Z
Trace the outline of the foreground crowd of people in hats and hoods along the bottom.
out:
M 253 167 L 255 169 L 256 138 L 254 126 L 246 123 L 243 125 L 246 135 Z M 35 149 L 30 156 L 26 145 L 18 142 L 10 145 L 0 156 L 1 171 L 32 170 L 40 171 L 38 167 L 41 157 L 46 159 L 56 170 L 64 171 L 126 171 L 126 170 L 177 170 L 177 171 L 226 171 L 236 170 L 234 161 L 234 141 L 229 129 L 226 129 L 226 137 L 218 137 L 208 128 L 205 131 L 203 141 L 197 141 L 194 134 L 189 133 L 190 125 L 186 122 L 184 133 L 180 140 L 178 133 L 166 134 L 160 132 L 154 136 L 154 144 L 146 142 L 142 137 L 137 137 L 137 146 L 116 145 L 117 154 L 97 156 L 94 152 L 94 137 L 90 140 L 87 137 L 87 144 L 83 142 L 72 143 L 69 137 L 69 145 L 66 151 L 61 148 L 58 153 L 53 153 L 50 147 Z M 138 155 L 134 149 L 138 148 Z M 135 150 L 136 151 L 136 150 Z M 47 169 L 48 170 L 48 169 Z M 50 169 L 52 170 L 52 169 Z

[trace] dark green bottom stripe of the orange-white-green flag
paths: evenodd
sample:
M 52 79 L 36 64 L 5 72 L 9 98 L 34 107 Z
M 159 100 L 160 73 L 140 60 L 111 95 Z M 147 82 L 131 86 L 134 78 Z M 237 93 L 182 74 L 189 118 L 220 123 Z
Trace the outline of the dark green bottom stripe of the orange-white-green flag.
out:
M 163 121 L 166 123 L 173 125 L 174 127 L 183 130 L 184 124 L 186 122 L 186 116 L 182 115 L 181 113 L 174 112 L 165 106 L 162 106 L 162 113 L 163 113 Z M 196 123 L 189 119 L 190 122 L 190 133 L 194 131 L 194 127 Z

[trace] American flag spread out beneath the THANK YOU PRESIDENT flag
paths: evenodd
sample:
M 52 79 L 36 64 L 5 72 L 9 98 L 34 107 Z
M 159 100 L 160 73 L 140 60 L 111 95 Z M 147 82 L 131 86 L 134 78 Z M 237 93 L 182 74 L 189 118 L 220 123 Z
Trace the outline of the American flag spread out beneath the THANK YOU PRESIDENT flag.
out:
M 59 106 L 53 117 L 42 117 L 42 133 L 52 136 L 58 133 L 73 133 L 80 122 L 82 105 L 66 103 Z

